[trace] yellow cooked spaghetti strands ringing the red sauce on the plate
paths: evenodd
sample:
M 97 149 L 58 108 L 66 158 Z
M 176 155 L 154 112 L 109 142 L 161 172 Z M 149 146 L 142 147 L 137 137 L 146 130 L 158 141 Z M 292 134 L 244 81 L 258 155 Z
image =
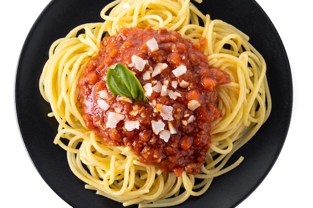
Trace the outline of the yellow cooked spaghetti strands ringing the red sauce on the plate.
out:
M 214 177 L 242 162 L 240 157 L 224 167 L 269 116 L 271 99 L 264 59 L 248 36 L 222 20 L 211 20 L 189 0 L 115 0 L 100 15 L 103 22 L 78 25 L 49 49 L 39 89 L 50 103 L 48 116 L 59 123 L 54 144 L 67 152 L 71 171 L 86 183 L 86 189 L 123 206 L 168 207 L 202 195 Z M 211 145 L 197 174 L 182 172 L 177 177 L 143 164 L 129 147 L 106 146 L 82 118 L 77 81 L 88 60 L 98 53 L 102 38 L 123 27 L 148 25 L 177 31 L 184 39 L 199 43 L 209 65 L 230 77 L 229 83 L 219 87 L 217 107 L 223 116 L 211 125 Z M 81 30 L 84 33 L 79 33 Z

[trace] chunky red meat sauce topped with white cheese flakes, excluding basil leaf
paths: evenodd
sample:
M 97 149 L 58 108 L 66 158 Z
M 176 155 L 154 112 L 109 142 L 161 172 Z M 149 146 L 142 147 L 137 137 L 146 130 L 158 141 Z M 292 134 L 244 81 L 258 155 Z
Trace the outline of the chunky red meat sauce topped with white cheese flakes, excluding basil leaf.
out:
M 148 102 L 112 95 L 105 80 L 115 63 L 133 72 Z M 218 86 L 227 82 L 229 75 L 210 67 L 198 44 L 146 27 L 104 37 L 77 87 L 84 122 L 105 145 L 129 146 L 142 163 L 180 176 L 204 164 L 211 122 L 222 116 Z

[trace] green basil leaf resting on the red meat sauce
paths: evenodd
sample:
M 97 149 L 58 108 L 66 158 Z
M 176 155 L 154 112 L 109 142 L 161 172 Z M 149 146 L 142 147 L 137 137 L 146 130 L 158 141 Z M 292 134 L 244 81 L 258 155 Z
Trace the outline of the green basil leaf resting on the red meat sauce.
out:
M 121 95 L 136 101 L 148 102 L 137 77 L 123 64 L 111 65 L 106 73 L 108 90 L 114 95 Z

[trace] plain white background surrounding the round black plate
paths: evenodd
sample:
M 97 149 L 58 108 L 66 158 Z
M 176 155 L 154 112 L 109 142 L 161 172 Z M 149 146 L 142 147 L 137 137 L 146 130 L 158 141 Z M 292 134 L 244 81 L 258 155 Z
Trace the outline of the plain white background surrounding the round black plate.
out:
M 5 3 L 4 3 L 5 2 Z M 39 176 L 19 135 L 14 76 L 22 44 L 49 0 L 0 2 L 0 207 L 70 208 Z M 272 170 L 238 208 L 312 208 L 313 10 L 309 0 L 257 0 L 286 49 L 293 79 L 289 132 Z M 31 121 L 30 121 L 31 122 Z M 4 195 L 3 195 L 4 193 Z

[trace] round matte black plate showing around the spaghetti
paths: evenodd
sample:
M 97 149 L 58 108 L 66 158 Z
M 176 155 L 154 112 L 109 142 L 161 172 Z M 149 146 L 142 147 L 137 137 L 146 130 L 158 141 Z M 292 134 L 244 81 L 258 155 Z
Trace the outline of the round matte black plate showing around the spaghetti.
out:
M 65 151 L 52 143 L 57 123 L 54 118 L 47 118 L 50 107 L 39 94 L 38 79 L 50 44 L 78 24 L 101 21 L 99 12 L 109 1 L 52 0 L 31 28 L 17 65 L 15 108 L 25 148 L 44 181 L 74 208 L 122 208 L 122 205 L 85 190 L 84 183 L 71 173 Z M 256 189 L 280 153 L 291 116 L 291 73 L 277 31 L 254 0 L 207 0 L 199 8 L 212 19 L 222 19 L 249 35 L 268 68 L 272 112 L 253 139 L 232 157 L 234 161 L 242 155 L 244 161 L 231 172 L 215 178 L 204 195 L 190 197 L 176 206 L 231 208 Z

